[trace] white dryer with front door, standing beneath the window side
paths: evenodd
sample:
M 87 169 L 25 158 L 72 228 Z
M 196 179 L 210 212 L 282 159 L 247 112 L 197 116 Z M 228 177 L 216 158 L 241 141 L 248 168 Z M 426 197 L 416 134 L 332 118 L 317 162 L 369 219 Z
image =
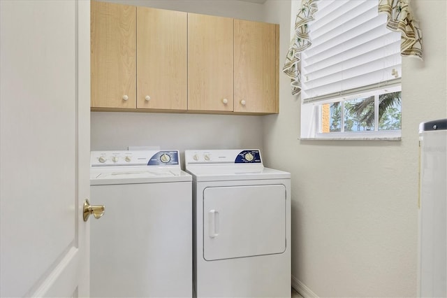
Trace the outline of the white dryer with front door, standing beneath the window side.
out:
M 196 297 L 291 296 L 291 175 L 259 150 L 186 150 Z

